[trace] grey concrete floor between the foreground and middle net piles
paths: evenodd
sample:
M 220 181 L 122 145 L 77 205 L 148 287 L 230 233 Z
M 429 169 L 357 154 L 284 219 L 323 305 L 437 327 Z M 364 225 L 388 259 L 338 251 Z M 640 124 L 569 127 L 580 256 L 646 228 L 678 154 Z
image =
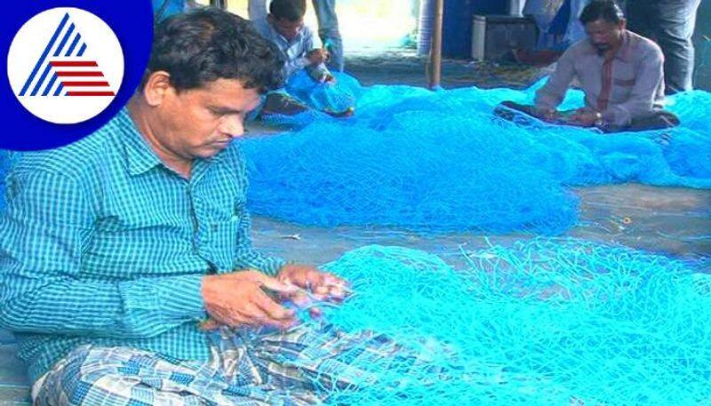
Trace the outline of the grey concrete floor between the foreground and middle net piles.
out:
M 564 236 L 696 260 L 711 253 L 711 192 L 642 185 L 574 190 L 581 219 Z M 387 227 L 303 227 L 274 219 L 254 219 L 254 244 L 262 251 L 295 261 L 324 264 L 367 244 L 398 245 L 455 259 L 459 247 L 510 245 L 535 235 L 459 233 L 422 235 Z M 711 270 L 710 270 L 711 271 Z

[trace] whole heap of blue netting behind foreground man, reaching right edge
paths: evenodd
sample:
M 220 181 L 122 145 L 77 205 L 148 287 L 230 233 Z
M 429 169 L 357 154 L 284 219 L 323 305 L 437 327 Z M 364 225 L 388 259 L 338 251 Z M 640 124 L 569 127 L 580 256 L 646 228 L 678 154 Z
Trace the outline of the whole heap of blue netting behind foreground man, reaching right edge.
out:
M 271 117 L 298 130 L 242 143 L 251 161 L 252 211 L 324 227 L 555 235 L 576 222 L 578 203 L 567 187 L 711 187 L 708 92 L 670 98 L 668 108 L 683 123 L 678 128 L 601 134 L 491 115 L 502 100 L 530 103 L 542 83 L 526 91 L 430 92 L 338 79 L 309 89 L 322 100 L 324 94 L 355 98 L 355 116 L 337 119 L 315 110 Z M 582 93 L 569 92 L 562 108 L 580 105 Z

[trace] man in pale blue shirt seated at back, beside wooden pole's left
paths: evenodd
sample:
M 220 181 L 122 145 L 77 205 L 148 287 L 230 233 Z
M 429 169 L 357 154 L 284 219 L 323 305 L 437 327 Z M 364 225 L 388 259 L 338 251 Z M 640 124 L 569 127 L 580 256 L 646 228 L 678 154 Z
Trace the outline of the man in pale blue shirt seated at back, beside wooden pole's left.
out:
M 333 83 L 335 78 L 325 65 L 330 54 L 324 48 L 314 48 L 314 35 L 304 25 L 305 14 L 306 0 L 274 0 L 269 4 L 267 17 L 255 20 L 254 27 L 283 52 L 284 76 L 287 80 L 303 68 L 317 82 Z M 309 109 L 280 91 L 268 94 L 262 113 L 296 115 Z M 353 113 L 353 109 L 340 112 L 325 109 L 324 112 L 333 116 L 348 116 Z

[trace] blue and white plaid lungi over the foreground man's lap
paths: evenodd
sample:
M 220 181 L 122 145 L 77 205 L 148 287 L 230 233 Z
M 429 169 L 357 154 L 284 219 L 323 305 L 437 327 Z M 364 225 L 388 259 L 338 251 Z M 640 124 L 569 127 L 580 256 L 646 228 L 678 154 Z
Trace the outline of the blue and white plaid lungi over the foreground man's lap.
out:
M 37 382 L 35 404 L 319 404 L 334 390 L 373 384 L 376 374 L 367 368 L 373 362 L 417 363 L 384 336 L 346 334 L 326 324 L 268 334 L 223 329 L 209 337 L 209 362 L 121 346 L 79 346 Z

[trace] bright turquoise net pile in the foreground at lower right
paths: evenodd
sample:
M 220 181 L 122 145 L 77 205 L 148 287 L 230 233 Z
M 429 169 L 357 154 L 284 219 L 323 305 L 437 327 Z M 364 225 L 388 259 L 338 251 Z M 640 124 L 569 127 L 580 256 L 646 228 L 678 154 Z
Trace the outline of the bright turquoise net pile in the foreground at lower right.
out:
M 356 292 L 325 307 L 324 321 L 383 333 L 411 355 L 356 362 L 357 388 L 322 387 L 330 404 L 711 401 L 711 275 L 575 240 L 463 254 L 468 266 L 455 268 L 423 251 L 369 246 L 324 266 Z M 342 373 L 353 379 L 353 369 Z

